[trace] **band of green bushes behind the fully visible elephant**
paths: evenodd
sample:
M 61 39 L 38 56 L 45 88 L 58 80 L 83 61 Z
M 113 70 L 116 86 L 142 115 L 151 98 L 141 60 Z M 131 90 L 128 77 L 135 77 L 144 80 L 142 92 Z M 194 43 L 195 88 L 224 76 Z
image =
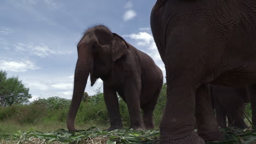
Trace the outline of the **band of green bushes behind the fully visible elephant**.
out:
M 101 88 L 95 95 L 84 93 L 83 101 L 79 106 L 76 124 L 93 123 L 96 125 L 109 125 L 109 116 Z M 118 95 L 119 111 L 124 127 L 130 127 L 130 116 L 127 104 Z M 166 102 L 166 83 L 162 86 L 158 104 L 154 110 L 155 127 L 157 128 L 162 117 Z M 0 107 L 0 121 L 14 119 L 20 124 L 35 124 L 40 122 L 66 122 L 71 100 L 59 97 L 38 99 L 30 105 L 13 105 Z M 142 114 L 143 115 L 143 114 Z

